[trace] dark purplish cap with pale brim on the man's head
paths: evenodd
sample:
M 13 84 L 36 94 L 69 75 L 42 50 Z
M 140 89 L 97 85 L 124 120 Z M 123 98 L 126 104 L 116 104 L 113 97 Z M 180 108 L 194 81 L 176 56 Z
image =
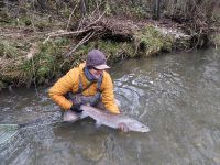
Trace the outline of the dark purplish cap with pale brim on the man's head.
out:
M 86 66 L 95 67 L 96 69 L 103 70 L 110 68 L 107 65 L 105 54 L 99 50 L 92 50 L 88 53 Z

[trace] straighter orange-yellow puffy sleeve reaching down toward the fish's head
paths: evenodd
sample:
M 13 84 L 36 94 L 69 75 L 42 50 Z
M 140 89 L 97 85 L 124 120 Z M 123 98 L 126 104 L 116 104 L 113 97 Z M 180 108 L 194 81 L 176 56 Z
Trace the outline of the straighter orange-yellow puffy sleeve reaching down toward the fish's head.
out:
M 113 84 L 111 77 L 108 73 L 106 73 L 106 77 L 103 79 L 103 90 L 102 90 L 102 102 L 107 110 L 112 113 L 120 113 L 119 108 L 116 103 L 114 94 L 113 94 Z

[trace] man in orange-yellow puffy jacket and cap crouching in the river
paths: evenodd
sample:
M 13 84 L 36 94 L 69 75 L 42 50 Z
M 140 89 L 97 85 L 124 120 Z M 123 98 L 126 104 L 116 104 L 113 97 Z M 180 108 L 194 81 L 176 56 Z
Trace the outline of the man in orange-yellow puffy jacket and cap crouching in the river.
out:
M 64 121 L 75 121 L 82 111 L 80 106 L 87 103 L 120 113 L 108 68 L 105 54 L 92 50 L 86 63 L 70 69 L 50 89 L 50 97 L 65 110 Z M 125 131 L 123 124 L 119 128 Z

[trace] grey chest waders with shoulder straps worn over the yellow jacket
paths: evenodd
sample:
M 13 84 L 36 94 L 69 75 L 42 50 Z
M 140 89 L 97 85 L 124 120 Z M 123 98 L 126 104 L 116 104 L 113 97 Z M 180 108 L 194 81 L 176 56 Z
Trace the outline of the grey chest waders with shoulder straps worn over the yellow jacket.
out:
M 90 82 L 85 89 L 82 87 L 81 82 L 81 76 L 79 75 L 79 88 L 76 94 L 68 92 L 67 98 L 73 101 L 73 103 L 84 103 L 84 105 L 90 105 L 96 106 L 101 101 L 101 82 L 102 82 L 103 75 L 97 80 L 97 94 L 92 96 L 84 96 L 82 92 L 87 90 L 94 82 Z

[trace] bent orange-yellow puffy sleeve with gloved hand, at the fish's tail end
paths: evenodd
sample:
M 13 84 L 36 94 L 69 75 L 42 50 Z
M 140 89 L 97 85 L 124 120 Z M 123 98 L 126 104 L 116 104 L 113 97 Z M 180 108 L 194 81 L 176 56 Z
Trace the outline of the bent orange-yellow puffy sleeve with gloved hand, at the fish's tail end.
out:
M 50 89 L 50 97 L 64 110 L 70 109 L 73 102 L 64 97 L 65 94 L 72 91 L 76 81 L 76 72 L 69 70 L 65 76 L 59 78 L 55 85 Z

